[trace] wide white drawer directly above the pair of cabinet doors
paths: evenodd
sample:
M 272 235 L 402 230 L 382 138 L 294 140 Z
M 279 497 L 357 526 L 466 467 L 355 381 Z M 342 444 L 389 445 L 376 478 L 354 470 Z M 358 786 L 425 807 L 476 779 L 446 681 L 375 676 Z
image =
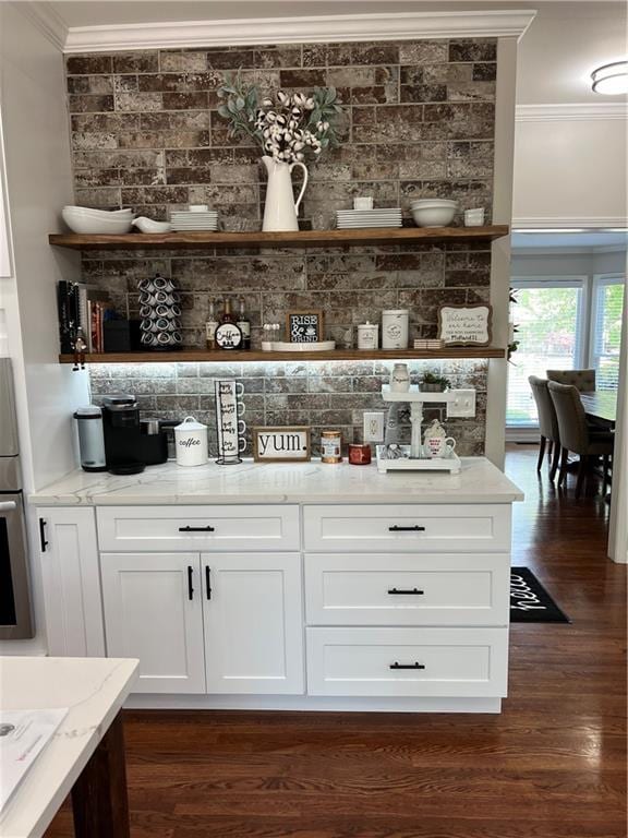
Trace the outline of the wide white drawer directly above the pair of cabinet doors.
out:
M 299 550 L 299 506 L 101 506 L 100 550 Z

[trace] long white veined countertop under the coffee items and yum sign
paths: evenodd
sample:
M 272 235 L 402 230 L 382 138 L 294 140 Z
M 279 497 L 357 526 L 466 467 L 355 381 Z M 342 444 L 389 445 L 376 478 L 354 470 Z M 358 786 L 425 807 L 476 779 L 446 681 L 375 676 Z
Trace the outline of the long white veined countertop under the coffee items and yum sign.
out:
M 523 493 L 484 457 L 462 458 L 458 475 L 396 471 L 375 464 L 253 463 L 149 466 L 120 477 L 77 469 L 29 495 L 38 506 L 225 503 L 511 503 Z

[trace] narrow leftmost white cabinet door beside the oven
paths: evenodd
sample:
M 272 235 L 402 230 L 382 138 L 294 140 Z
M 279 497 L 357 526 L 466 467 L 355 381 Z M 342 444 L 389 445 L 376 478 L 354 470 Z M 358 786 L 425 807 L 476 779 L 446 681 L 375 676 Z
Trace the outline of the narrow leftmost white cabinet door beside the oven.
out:
M 105 636 L 94 510 L 37 510 L 48 654 L 102 657 Z

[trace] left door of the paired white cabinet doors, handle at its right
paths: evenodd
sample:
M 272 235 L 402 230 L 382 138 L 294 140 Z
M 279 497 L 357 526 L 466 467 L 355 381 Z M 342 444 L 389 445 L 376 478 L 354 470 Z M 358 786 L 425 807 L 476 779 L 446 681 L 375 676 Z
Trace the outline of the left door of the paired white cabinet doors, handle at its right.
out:
M 138 658 L 137 693 L 204 693 L 197 553 L 102 553 L 107 654 Z

